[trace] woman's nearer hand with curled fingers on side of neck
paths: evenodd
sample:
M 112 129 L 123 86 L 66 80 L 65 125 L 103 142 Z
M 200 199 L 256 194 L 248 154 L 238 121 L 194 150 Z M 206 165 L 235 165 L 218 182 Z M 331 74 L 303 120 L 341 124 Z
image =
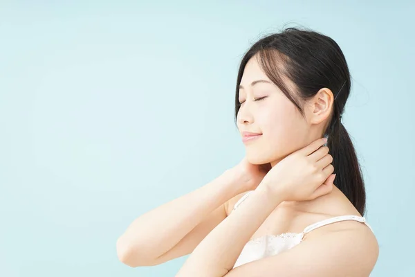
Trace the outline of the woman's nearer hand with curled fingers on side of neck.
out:
M 259 187 L 284 201 L 312 200 L 330 193 L 335 175 L 333 157 L 323 146 L 326 139 L 317 139 L 277 163 L 264 177 Z

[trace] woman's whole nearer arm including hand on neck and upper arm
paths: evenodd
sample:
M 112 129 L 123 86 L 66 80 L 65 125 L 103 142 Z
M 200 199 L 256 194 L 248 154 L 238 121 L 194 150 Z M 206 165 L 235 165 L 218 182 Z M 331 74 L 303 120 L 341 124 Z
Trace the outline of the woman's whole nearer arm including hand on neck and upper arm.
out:
M 320 148 L 325 142 L 318 139 L 279 161 L 254 193 L 194 249 L 176 277 L 362 276 L 370 272 L 377 244 L 362 235 L 356 240 L 355 233 L 346 231 L 320 234 L 318 240 L 308 239 L 290 251 L 233 269 L 246 242 L 279 204 L 309 201 L 331 192 L 335 175 L 328 148 Z

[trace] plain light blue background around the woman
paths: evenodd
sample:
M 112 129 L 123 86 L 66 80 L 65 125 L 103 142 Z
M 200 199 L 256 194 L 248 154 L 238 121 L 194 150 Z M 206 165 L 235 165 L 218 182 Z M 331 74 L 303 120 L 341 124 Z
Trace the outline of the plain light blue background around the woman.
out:
M 284 24 L 344 51 L 371 276 L 415 276 L 413 1 L 67 2 L 0 3 L 0 276 L 174 276 L 187 256 L 132 269 L 116 240 L 243 157 L 239 61 Z

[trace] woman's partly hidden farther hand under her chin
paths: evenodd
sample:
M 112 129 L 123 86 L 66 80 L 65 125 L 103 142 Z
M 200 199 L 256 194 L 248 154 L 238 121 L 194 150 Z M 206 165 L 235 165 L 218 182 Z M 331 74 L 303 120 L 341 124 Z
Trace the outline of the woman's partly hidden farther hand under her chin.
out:
M 237 166 L 232 168 L 232 171 L 241 178 L 242 184 L 240 186 L 242 190 L 248 191 L 255 190 L 270 169 L 270 163 L 254 165 L 244 157 Z

